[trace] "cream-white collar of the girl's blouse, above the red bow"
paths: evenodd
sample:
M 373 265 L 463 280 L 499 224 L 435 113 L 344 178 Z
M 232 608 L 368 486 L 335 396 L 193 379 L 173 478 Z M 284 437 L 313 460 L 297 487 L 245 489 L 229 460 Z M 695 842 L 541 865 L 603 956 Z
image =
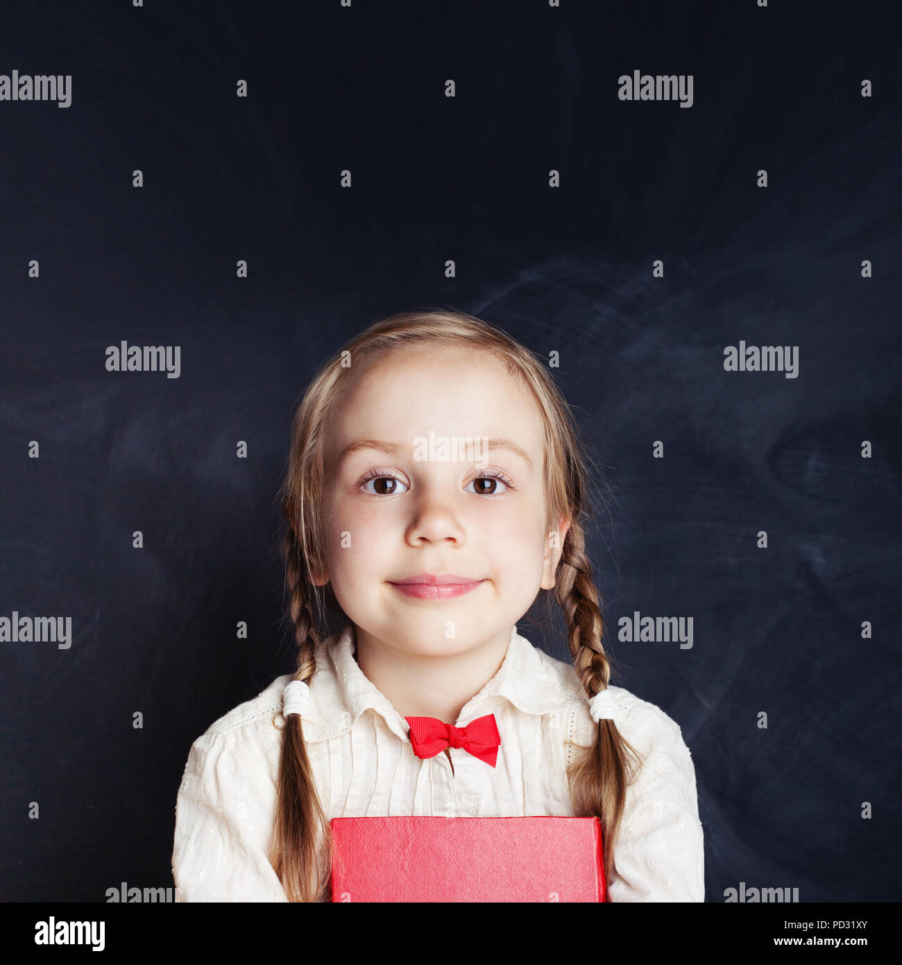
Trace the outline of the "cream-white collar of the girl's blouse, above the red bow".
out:
M 341 633 L 320 643 L 316 652 L 316 699 L 305 715 L 305 723 L 315 730 L 308 741 L 325 740 L 349 731 L 368 709 L 380 714 L 398 737 L 409 739 L 409 727 L 389 699 L 369 680 L 354 659 L 354 626 L 348 623 Z M 498 672 L 488 680 L 460 712 L 460 727 L 482 714 L 491 713 L 498 699 L 509 701 L 528 714 L 547 714 L 560 710 L 579 695 L 569 693 L 548 658 L 519 633 L 510 632 L 505 659 Z

